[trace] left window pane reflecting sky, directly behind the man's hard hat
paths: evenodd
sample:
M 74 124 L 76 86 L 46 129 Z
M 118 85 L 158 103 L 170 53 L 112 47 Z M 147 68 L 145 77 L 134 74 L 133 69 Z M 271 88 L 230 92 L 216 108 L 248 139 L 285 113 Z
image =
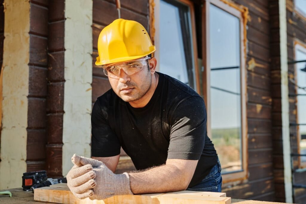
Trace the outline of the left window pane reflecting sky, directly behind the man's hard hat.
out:
M 193 6 L 189 1 L 159 1 L 159 71 L 197 90 Z

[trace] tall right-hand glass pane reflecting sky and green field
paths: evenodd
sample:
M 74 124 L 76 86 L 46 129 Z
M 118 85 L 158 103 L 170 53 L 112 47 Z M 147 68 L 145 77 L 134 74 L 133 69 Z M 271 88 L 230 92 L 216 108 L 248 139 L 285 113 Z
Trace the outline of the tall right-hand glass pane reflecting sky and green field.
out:
M 242 170 L 239 18 L 210 5 L 211 138 L 222 172 Z M 226 100 L 224 100 L 226 99 Z

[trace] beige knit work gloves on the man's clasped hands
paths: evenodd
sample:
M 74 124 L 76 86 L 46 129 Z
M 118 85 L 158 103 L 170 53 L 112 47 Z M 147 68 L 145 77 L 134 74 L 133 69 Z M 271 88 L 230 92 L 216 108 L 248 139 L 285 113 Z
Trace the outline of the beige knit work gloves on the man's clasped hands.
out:
M 75 189 L 78 190 L 73 192 L 76 197 L 82 199 L 86 198 L 84 197 L 86 195 L 91 200 L 102 200 L 114 195 L 133 195 L 130 187 L 130 179 L 128 173 L 114 174 L 109 168 L 107 168 L 107 166 L 103 162 L 91 158 L 80 157 L 76 154 L 73 155 L 72 161 L 77 166 L 79 166 L 80 164 L 84 165 L 83 167 L 85 167 L 86 165 L 91 165 L 92 171 L 95 173 L 95 184 L 91 182 L 92 177 L 89 176 L 79 176 L 80 179 L 78 177 L 74 177 L 75 182 L 71 180 L 70 183 L 72 188 L 69 188 L 71 191 L 75 191 Z M 88 169 L 88 172 L 90 173 L 86 172 L 83 175 L 91 175 L 91 170 L 89 168 L 86 169 Z M 73 172 L 75 172 L 75 170 Z M 85 181 L 86 179 L 83 178 L 86 178 L 88 180 Z M 83 186 L 86 188 L 83 188 Z M 80 192 L 81 190 L 79 189 L 82 189 L 83 192 Z M 89 195 L 91 194 L 91 191 L 93 191 L 93 195 Z

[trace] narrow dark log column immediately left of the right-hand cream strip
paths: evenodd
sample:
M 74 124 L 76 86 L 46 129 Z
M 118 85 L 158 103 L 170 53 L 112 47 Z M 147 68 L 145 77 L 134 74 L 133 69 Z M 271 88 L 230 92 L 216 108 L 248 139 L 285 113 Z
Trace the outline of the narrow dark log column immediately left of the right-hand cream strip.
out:
M 281 96 L 281 62 L 278 1 L 270 0 L 270 44 L 271 44 L 271 93 L 272 93 L 272 139 L 274 159 L 275 199 L 285 202 L 284 162 L 282 147 L 282 96 Z M 288 141 L 289 142 L 289 141 Z

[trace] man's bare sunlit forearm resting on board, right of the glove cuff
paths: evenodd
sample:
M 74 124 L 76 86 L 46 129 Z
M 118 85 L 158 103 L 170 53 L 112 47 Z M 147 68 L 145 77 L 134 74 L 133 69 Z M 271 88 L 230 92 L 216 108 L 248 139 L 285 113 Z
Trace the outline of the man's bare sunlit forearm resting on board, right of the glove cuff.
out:
M 195 162 L 192 165 L 177 165 L 167 162 L 166 165 L 144 172 L 129 173 L 131 190 L 134 194 L 185 190 L 193 176 L 197 164 L 197 161 Z

